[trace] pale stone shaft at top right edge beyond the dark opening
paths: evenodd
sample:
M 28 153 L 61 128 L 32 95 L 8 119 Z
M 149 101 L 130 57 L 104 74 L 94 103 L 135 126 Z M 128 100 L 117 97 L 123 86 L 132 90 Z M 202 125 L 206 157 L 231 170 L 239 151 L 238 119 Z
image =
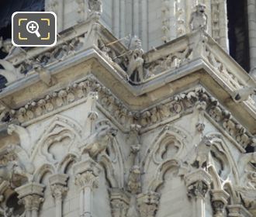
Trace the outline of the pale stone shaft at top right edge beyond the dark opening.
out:
M 256 67 L 256 2 L 247 0 L 251 70 Z M 256 70 L 256 69 L 255 69 Z

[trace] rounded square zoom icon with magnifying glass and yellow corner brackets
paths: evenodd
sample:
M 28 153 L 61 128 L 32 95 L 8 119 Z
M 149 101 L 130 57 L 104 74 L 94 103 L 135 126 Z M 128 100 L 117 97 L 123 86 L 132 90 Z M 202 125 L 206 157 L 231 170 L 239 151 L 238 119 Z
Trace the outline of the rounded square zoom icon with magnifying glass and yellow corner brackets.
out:
M 12 14 L 12 44 L 16 47 L 51 47 L 56 44 L 54 12 L 15 12 Z

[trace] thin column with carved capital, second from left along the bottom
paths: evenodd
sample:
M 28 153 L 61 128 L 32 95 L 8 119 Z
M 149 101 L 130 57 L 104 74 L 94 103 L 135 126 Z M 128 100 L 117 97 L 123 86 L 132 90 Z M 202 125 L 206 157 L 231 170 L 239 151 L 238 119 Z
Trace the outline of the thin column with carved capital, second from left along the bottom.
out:
M 55 200 L 55 216 L 62 216 L 62 198 L 67 193 L 67 174 L 54 174 L 49 177 L 50 190 Z

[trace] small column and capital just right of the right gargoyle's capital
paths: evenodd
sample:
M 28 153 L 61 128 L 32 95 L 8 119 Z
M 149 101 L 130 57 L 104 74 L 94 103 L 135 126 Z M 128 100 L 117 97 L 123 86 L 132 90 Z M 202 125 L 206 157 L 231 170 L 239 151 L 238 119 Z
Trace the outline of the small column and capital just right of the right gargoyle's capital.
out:
M 226 191 L 212 190 L 212 206 L 214 217 L 225 217 L 224 210 L 227 205 L 227 199 L 230 197 Z

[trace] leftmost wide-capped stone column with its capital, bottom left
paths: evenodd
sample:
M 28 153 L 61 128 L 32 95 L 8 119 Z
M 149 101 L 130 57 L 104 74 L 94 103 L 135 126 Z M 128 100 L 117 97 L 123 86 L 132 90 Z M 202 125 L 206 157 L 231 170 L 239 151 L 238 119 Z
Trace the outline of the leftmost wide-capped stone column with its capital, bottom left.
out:
M 37 217 L 43 202 L 43 184 L 29 183 L 16 188 L 19 202 L 25 205 L 26 217 Z

